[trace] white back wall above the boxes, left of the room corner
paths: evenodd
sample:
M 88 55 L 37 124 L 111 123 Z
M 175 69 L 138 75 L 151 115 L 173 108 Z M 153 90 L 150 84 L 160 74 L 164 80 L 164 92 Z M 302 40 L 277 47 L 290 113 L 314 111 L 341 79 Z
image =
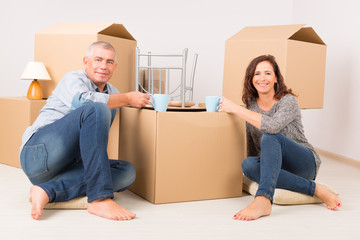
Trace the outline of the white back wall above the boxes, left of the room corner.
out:
M 116 22 L 137 39 L 141 51 L 188 48 L 189 63 L 198 53 L 194 97 L 204 102 L 206 95 L 222 92 L 225 40 L 247 25 L 290 24 L 291 9 L 287 0 L 7 1 L 0 15 L 0 96 L 26 95 L 30 82 L 19 79 L 34 58 L 36 32 L 59 22 Z

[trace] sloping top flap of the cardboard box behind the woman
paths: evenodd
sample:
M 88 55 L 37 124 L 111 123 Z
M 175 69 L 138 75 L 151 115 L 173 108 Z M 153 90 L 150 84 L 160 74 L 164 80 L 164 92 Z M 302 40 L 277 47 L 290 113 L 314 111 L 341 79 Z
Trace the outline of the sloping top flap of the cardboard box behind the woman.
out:
M 228 40 L 288 39 L 306 24 L 245 27 Z

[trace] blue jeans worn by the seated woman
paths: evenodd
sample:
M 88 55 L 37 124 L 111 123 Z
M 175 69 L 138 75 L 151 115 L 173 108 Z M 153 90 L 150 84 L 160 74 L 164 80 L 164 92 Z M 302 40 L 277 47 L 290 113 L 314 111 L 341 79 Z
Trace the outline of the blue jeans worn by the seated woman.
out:
M 255 196 L 273 202 L 275 188 L 314 196 L 316 166 L 313 153 L 282 134 L 264 133 L 261 156 L 248 157 L 242 163 L 244 175 L 259 183 Z

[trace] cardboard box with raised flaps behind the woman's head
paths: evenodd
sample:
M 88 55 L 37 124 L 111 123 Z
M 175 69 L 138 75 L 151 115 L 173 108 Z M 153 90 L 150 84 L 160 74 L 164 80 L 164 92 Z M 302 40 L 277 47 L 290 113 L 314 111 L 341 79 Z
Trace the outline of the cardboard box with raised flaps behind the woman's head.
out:
M 300 108 L 322 108 L 326 45 L 305 24 L 245 27 L 226 40 L 223 95 L 243 104 L 245 71 L 252 59 L 275 56 L 286 85 L 298 95 Z

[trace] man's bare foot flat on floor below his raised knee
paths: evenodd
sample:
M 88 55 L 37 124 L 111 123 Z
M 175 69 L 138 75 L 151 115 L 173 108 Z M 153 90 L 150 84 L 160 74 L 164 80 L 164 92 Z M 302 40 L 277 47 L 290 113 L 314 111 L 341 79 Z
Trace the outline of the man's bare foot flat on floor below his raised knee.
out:
M 87 210 L 91 214 L 111 220 L 131 220 L 136 217 L 134 213 L 129 212 L 110 198 L 88 203 Z

